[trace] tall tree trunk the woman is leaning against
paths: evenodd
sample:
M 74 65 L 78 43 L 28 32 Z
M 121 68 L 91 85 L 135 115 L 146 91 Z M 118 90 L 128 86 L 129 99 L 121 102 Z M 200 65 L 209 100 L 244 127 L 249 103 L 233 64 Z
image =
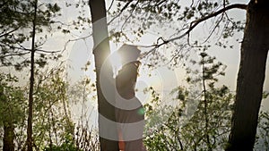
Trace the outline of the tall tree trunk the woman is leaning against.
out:
M 99 111 L 99 131 L 100 131 L 100 149 L 101 151 L 118 151 L 117 146 L 117 127 L 115 118 L 115 107 L 111 100 L 108 102 L 108 97 L 105 97 L 104 89 L 100 87 L 100 80 L 108 81 L 107 86 L 112 93 L 113 88 L 109 81 L 113 79 L 112 67 L 110 64 L 104 64 L 110 54 L 108 42 L 108 24 L 107 10 L 105 0 L 90 0 L 92 36 L 94 42 L 93 55 L 95 58 L 95 69 L 97 79 L 97 96 L 98 96 L 98 111 Z M 105 69 L 105 77 L 100 77 L 101 68 Z M 103 70 L 102 69 L 102 70 Z M 114 99 L 109 96 L 109 99 Z M 112 100 L 113 101 L 113 100 Z M 106 119 L 106 120 L 104 120 Z M 112 137 L 112 138 L 111 138 Z

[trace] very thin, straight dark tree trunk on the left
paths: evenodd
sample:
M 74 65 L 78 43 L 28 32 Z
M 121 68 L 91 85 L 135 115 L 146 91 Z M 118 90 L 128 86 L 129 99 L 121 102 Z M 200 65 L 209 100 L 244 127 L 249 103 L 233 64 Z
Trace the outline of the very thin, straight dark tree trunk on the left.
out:
M 28 102 L 28 119 L 27 119 L 27 150 L 32 151 L 32 106 L 33 106 L 33 87 L 34 87 L 34 64 L 35 64 L 35 35 L 36 35 L 36 20 L 37 20 L 38 0 L 34 2 L 34 16 L 32 21 L 32 40 L 30 52 L 30 89 Z

